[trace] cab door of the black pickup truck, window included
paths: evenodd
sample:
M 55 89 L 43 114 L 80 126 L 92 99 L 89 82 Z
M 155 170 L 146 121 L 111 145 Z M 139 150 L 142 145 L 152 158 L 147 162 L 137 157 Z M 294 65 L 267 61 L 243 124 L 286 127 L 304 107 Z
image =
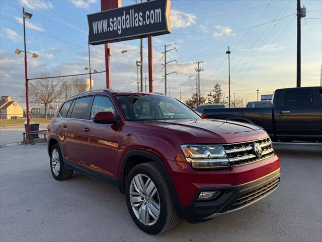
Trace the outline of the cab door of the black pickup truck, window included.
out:
M 284 94 L 284 95 L 283 95 Z M 319 102 L 312 88 L 285 90 L 276 110 L 278 137 L 316 137 L 320 133 Z

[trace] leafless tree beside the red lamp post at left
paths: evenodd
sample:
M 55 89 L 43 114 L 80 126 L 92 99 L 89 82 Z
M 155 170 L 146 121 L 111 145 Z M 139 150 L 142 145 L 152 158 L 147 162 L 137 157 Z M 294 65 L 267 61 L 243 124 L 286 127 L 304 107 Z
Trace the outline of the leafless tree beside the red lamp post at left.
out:
M 47 118 L 48 107 L 61 100 L 66 86 L 64 79 L 46 79 L 46 73 L 39 77 L 44 79 L 33 80 L 29 83 L 29 96 L 33 104 L 43 104 L 45 108 L 45 118 Z

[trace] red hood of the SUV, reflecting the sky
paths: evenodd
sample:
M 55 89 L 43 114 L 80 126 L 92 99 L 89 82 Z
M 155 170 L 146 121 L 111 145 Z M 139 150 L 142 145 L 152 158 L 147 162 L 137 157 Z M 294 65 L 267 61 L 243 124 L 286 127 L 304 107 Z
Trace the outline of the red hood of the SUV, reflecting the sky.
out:
M 190 135 L 201 139 L 213 139 L 214 137 L 217 137 L 222 138 L 227 142 L 239 142 L 236 138 L 240 138 L 240 141 L 246 141 L 261 138 L 258 136 L 268 136 L 259 126 L 220 119 L 176 119 L 145 121 L 144 123 L 189 133 Z

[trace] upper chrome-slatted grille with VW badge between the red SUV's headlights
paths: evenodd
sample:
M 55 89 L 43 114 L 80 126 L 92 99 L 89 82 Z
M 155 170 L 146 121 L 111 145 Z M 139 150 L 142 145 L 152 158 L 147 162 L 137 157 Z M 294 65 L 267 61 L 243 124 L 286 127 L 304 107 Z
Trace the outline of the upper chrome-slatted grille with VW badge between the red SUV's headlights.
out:
M 253 148 L 255 143 L 258 143 L 262 148 L 263 153 L 261 157 L 258 157 L 255 154 Z M 236 144 L 225 144 L 223 145 L 223 148 L 225 149 L 231 166 L 253 162 L 274 154 L 272 141 L 270 138 Z

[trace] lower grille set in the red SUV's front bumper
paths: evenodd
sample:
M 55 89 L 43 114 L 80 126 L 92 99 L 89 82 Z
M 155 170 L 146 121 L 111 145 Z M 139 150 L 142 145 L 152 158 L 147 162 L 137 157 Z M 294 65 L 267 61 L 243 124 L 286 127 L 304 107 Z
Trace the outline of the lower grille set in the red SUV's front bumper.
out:
M 252 192 L 244 194 L 243 196 L 237 199 L 235 204 L 232 205 L 233 209 L 236 209 L 238 207 L 243 207 L 249 203 L 253 203 L 257 200 L 260 200 L 261 198 L 265 197 L 269 193 L 273 192 L 277 188 L 279 183 L 280 183 L 280 178 L 277 178 L 276 180 L 273 180 L 271 183 L 266 184 L 265 186 L 259 189 L 256 189 Z

